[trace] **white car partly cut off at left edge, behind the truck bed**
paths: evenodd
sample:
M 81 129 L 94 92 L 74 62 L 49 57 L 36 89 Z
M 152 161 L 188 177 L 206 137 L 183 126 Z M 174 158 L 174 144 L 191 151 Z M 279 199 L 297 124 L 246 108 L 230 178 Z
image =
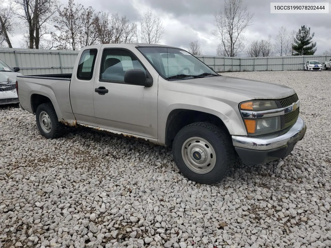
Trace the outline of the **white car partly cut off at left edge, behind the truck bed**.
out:
M 19 70 L 19 67 L 10 68 L 0 60 L 0 105 L 19 103 L 16 92 L 16 76 L 22 75 Z

